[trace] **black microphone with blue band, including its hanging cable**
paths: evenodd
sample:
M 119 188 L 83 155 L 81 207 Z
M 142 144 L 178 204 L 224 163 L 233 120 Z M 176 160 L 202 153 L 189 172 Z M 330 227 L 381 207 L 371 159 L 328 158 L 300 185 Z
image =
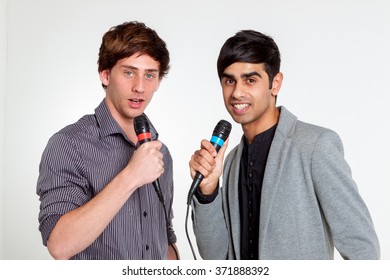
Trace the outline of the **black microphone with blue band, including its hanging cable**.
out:
M 213 144 L 217 153 L 225 143 L 226 139 L 229 137 L 231 130 L 232 130 L 232 125 L 225 120 L 220 120 L 218 124 L 215 126 L 210 142 Z M 188 216 L 190 212 L 192 197 L 195 191 L 197 190 L 197 188 L 199 187 L 200 183 L 202 182 L 203 178 L 204 176 L 200 172 L 196 172 L 187 196 L 187 213 L 186 213 L 186 220 L 185 220 L 185 231 L 186 231 L 187 240 L 190 245 L 194 260 L 196 260 L 196 254 L 191 243 L 191 238 L 188 234 Z

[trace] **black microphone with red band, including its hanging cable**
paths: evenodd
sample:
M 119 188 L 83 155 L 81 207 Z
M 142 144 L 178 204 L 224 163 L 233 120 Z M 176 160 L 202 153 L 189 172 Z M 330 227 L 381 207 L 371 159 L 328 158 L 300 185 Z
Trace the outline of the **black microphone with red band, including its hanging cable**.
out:
M 135 133 L 137 134 L 138 142 L 140 143 L 140 145 L 142 145 L 143 143 L 152 141 L 149 123 L 143 114 L 134 118 L 134 130 L 135 130 Z M 175 246 L 173 246 L 172 242 L 169 241 L 168 212 L 167 212 L 167 208 L 165 206 L 165 201 L 164 201 L 164 197 L 162 195 L 159 179 L 157 178 L 155 181 L 153 181 L 152 185 L 153 185 L 154 190 L 157 193 L 158 199 L 161 202 L 161 205 L 163 207 L 164 217 L 165 217 L 165 227 L 166 227 L 166 231 L 167 231 L 167 240 L 168 240 L 169 246 L 172 247 L 173 251 L 175 252 L 176 259 L 179 260 L 179 253 L 177 252 Z

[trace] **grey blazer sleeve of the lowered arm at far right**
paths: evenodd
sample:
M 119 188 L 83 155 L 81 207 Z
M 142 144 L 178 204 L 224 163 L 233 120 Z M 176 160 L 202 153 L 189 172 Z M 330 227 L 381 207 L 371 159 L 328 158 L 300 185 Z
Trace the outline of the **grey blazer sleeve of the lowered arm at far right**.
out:
M 325 130 L 312 154 L 316 195 L 334 246 L 344 259 L 379 259 L 379 241 L 370 213 L 344 159 L 339 136 Z

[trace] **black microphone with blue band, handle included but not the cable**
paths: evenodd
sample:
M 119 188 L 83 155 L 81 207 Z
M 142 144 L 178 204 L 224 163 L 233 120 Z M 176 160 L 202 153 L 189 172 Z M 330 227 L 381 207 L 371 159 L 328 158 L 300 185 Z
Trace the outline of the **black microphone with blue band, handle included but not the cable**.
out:
M 225 143 L 226 139 L 229 137 L 231 130 L 232 130 L 232 125 L 225 120 L 220 120 L 218 124 L 215 126 L 210 142 L 213 144 L 217 153 L 219 149 L 222 147 L 222 145 Z M 187 197 L 188 205 L 191 204 L 191 198 L 194 195 L 196 189 L 199 187 L 202 180 L 203 180 L 203 175 L 200 172 L 196 172 L 194 180 L 192 181 L 190 191 L 188 192 L 188 197 Z

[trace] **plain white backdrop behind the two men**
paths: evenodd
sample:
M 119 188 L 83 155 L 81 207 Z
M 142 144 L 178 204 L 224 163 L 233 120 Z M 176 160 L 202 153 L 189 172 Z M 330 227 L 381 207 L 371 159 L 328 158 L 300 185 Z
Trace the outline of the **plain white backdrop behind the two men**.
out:
M 171 71 L 146 113 L 173 156 L 174 225 L 183 259 L 192 259 L 184 231 L 188 161 L 220 119 L 232 121 L 223 105 L 216 59 L 224 41 L 241 29 L 267 33 L 279 45 L 285 76 L 279 105 L 341 136 L 382 258 L 390 259 L 388 0 L 1 3 L 7 35 L 0 40 L 6 39 L 7 47 L 0 46 L 0 55 L 6 53 L 7 64 L 0 68 L 0 121 L 5 118 L 0 125 L 0 258 L 50 259 L 37 222 L 42 151 L 53 133 L 93 113 L 104 97 L 97 72 L 104 32 L 139 20 L 159 33 L 171 53 Z M 229 150 L 240 137 L 241 128 L 233 123 Z

